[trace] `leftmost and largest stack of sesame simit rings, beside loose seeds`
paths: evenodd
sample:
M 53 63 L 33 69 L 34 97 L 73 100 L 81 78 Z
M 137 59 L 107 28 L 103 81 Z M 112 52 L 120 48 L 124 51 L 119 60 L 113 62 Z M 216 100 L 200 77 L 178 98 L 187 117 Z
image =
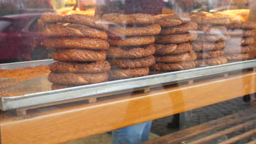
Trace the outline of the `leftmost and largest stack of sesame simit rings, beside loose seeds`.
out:
M 44 45 L 54 49 L 48 80 L 52 88 L 64 88 L 91 83 L 106 82 L 110 64 L 106 60 L 109 49 L 108 25 L 100 19 L 73 14 L 61 16 L 44 13 Z

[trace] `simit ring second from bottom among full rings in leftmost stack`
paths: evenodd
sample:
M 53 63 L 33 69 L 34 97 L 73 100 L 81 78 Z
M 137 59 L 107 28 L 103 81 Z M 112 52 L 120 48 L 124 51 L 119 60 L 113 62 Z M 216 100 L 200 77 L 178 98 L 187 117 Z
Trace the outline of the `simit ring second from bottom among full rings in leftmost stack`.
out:
M 99 61 L 92 63 L 55 62 L 49 65 L 51 71 L 56 73 L 102 73 L 110 70 L 110 63 Z

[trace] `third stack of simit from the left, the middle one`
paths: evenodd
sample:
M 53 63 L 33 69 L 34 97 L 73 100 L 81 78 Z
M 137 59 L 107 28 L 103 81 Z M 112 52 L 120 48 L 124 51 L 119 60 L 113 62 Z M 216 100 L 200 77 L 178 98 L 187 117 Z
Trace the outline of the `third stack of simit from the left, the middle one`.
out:
M 156 64 L 150 67 L 152 74 L 195 68 L 196 54 L 191 41 L 196 40 L 197 23 L 190 21 L 188 13 L 157 15 L 156 23 L 161 32 L 156 36 Z

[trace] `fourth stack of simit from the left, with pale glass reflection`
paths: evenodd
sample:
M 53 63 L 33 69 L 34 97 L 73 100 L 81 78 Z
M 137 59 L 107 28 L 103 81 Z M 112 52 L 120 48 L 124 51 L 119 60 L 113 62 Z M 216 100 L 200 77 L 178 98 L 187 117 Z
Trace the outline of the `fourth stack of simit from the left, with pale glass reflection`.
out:
M 196 65 L 200 67 L 226 63 L 223 52 L 227 29 L 224 26 L 228 19 L 217 17 L 205 11 L 191 14 L 191 19 L 199 24 L 197 40 L 193 43 L 196 51 Z

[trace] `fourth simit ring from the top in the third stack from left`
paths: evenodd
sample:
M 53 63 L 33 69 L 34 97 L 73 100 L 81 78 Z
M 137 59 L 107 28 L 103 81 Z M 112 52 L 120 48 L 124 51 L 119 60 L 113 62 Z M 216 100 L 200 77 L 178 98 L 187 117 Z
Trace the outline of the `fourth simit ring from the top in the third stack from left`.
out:
M 182 43 L 182 44 L 154 44 L 155 46 L 155 55 L 173 55 L 178 53 L 184 53 L 191 51 L 193 46 L 190 43 Z

